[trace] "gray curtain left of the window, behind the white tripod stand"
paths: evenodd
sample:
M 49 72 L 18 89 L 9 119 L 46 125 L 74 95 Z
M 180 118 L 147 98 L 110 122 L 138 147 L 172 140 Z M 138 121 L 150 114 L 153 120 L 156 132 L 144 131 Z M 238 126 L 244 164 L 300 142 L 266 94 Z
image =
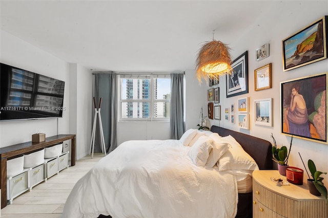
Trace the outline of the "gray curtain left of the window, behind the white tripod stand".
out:
M 106 152 L 111 152 L 117 147 L 117 81 L 116 73 L 94 72 L 93 94 L 96 106 L 99 107 L 101 98 L 100 116 L 103 125 Z M 95 111 L 92 111 L 94 118 Z M 93 119 L 92 119 L 93 122 Z M 100 129 L 97 119 L 94 152 L 101 152 Z

